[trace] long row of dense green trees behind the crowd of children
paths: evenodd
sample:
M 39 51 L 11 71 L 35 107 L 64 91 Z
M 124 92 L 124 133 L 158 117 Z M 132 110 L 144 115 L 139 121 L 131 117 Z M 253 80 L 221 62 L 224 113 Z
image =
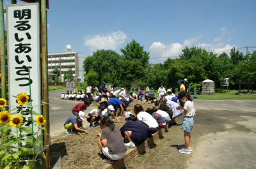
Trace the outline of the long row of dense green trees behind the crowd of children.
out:
M 161 83 L 165 87 L 177 88 L 177 80 L 188 78 L 189 87 L 195 87 L 198 91 L 202 81 L 207 78 L 213 80 L 216 87 L 220 87 L 223 78 L 230 78 L 231 86 L 237 82 L 248 82 L 248 78 L 255 80 L 255 52 L 243 55 L 232 48 L 230 55 L 225 52 L 214 54 L 193 46 L 182 49 L 179 58 L 168 58 L 163 64 L 149 64 L 149 52 L 135 40 L 127 43 L 120 51 L 124 55 L 113 50 L 93 52 L 92 56 L 84 60 L 84 76 L 88 77 L 88 74 L 95 72 L 99 83 L 133 87 L 143 87 L 147 83 L 155 88 Z M 250 68 L 246 69 L 247 65 Z

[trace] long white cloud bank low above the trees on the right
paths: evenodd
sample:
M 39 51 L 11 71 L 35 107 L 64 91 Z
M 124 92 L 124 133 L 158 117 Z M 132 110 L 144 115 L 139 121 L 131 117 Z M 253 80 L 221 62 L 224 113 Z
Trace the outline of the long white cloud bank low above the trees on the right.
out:
M 165 61 L 166 57 L 178 57 L 179 53 L 182 53 L 182 48 L 185 48 L 186 46 L 191 47 L 192 45 L 195 45 L 196 47 L 202 47 L 205 48 L 207 51 L 212 51 L 214 53 L 218 53 L 223 50 L 230 50 L 233 47 L 236 47 L 235 45 L 230 44 L 224 44 L 223 42 L 218 43 L 198 43 L 198 40 L 201 36 L 198 36 L 196 38 L 192 38 L 189 40 L 185 40 L 184 43 L 181 45 L 180 43 L 172 43 L 171 45 L 164 45 L 161 42 L 154 42 L 149 50 L 150 55 L 152 57 L 163 57 L 163 59 L 159 58 L 160 61 Z M 218 38 L 218 37 L 217 37 Z M 219 37 L 220 39 L 221 37 Z M 217 41 L 216 38 L 214 41 Z M 229 51 L 226 51 L 227 54 Z M 222 53 L 222 52 L 221 52 Z M 157 61 L 159 62 L 159 61 Z

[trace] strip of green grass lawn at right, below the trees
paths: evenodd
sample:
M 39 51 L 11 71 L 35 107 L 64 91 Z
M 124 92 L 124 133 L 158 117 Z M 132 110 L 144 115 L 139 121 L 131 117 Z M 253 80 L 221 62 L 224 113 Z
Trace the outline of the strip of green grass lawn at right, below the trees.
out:
M 247 90 L 246 90 L 247 91 Z M 228 91 L 227 90 L 223 90 L 223 91 L 219 91 L 216 90 L 216 94 L 213 95 L 196 95 L 196 97 L 198 99 L 256 99 L 255 95 L 252 95 L 253 93 L 255 94 L 256 92 L 252 92 L 252 90 L 250 90 L 251 94 L 250 95 L 246 95 L 247 92 L 244 92 L 243 95 L 236 95 L 237 92 L 239 92 L 238 90 L 231 90 Z M 194 96 L 194 95 L 191 95 Z

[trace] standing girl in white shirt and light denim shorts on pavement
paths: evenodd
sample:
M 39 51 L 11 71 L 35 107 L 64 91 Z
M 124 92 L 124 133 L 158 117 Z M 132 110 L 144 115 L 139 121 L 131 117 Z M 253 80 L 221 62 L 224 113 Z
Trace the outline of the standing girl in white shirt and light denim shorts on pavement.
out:
M 190 154 L 192 151 L 190 147 L 191 143 L 191 135 L 190 132 L 194 126 L 194 119 L 192 116 L 194 116 L 195 109 L 194 104 L 192 102 L 192 98 L 189 97 L 188 93 L 186 92 L 179 92 L 179 99 L 184 103 L 184 107 L 177 107 L 177 110 L 181 110 L 184 114 L 182 119 L 182 125 L 181 129 L 184 131 L 184 138 L 185 138 L 185 147 L 180 149 L 180 153 Z

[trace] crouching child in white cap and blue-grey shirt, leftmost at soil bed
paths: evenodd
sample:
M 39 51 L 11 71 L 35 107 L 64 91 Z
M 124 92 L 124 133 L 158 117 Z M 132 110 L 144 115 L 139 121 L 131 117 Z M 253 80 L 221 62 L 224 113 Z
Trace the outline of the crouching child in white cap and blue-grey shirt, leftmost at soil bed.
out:
M 64 123 L 64 128 L 67 129 L 67 134 L 72 135 L 74 132 L 71 129 L 76 131 L 84 132 L 89 135 L 88 131 L 83 128 L 84 112 L 80 111 L 77 115 L 72 115 L 68 117 L 67 121 Z

